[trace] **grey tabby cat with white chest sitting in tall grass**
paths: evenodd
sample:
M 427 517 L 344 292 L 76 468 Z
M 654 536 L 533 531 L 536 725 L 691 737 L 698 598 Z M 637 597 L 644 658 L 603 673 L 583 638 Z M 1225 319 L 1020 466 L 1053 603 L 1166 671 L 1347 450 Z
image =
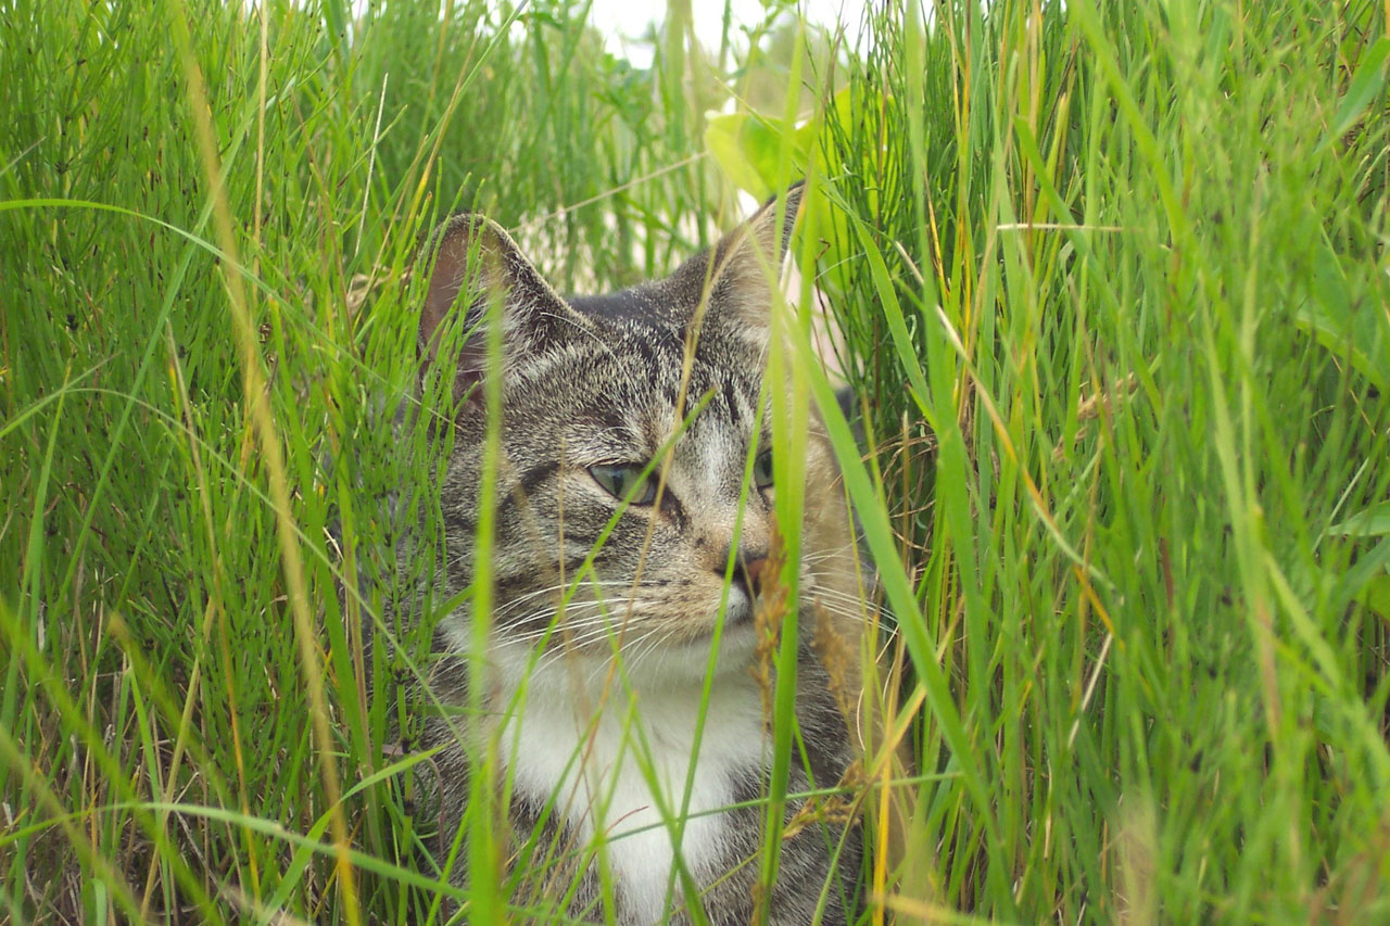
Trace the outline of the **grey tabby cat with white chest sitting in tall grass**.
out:
M 771 281 L 799 200 L 798 186 L 670 277 L 605 296 L 562 298 L 478 214 L 446 221 L 421 249 L 423 363 L 453 367 L 438 585 L 466 602 L 434 631 L 430 698 L 468 705 L 470 677 L 485 680 L 480 723 L 427 712 L 420 745 L 438 752 L 421 766 L 424 790 L 442 861 L 478 755 L 467 738 L 495 744 L 503 854 L 525 869 L 513 879 L 517 909 L 560 902 L 574 919 L 634 926 L 689 922 L 696 905 L 712 923 L 753 919 L 773 761 L 767 627 L 781 601 L 770 412 L 759 406 L 764 385 L 778 388 L 764 384 Z M 449 325 L 473 331 L 457 357 L 439 346 Z M 488 375 L 500 396 L 491 635 L 470 676 Z M 788 795 L 847 783 L 856 759 L 852 520 L 815 410 L 809 431 L 803 745 L 792 747 Z M 767 922 L 852 920 L 862 834 L 849 801 L 830 805 L 788 799 Z M 467 877 L 456 862 L 455 883 Z

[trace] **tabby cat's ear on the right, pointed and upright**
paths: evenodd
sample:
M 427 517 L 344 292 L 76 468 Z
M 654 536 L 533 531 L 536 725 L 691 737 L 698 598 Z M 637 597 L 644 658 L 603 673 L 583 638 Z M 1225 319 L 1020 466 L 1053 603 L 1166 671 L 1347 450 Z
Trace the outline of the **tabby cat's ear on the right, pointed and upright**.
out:
M 673 282 L 699 293 L 706 320 L 766 338 L 771 325 L 773 288 L 791 243 L 805 184 L 774 196 L 752 218 L 724 235 L 713 249 L 676 271 Z M 691 303 L 695 304 L 695 303 Z

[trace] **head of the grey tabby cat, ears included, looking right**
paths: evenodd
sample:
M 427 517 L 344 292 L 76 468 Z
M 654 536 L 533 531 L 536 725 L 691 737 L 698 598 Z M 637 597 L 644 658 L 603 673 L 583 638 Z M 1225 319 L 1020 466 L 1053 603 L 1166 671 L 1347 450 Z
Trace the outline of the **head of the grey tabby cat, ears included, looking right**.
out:
M 770 402 L 773 286 L 799 197 L 794 189 L 769 203 L 666 279 L 606 296 L 562 298 L 502 228 L 475 214 L 431 239 L 421 350 L 436 364 L 446 323 L 473 331 L 452 362 L 445 584 L 457 592 L 477 574 L 481 487 L 492 480 L 502 649 L 546 641 L 548 651 L 606 659 L 617 644 L 628 666 L 655 655 L 663 672 L 703 673 L 723 622 L 720 665 L 748 663 L 755 599 L 776 571 L 771 416 L 759 409 Z M 491 476 L 489 393 L 500 399 Z M 842 552 L 849 541 L 819 434 L 806 470 L 802 581 L 813 591 L 813 566 L 837 552 L 817 544 Z M 457 615 L 443 628 L 468 640 Z

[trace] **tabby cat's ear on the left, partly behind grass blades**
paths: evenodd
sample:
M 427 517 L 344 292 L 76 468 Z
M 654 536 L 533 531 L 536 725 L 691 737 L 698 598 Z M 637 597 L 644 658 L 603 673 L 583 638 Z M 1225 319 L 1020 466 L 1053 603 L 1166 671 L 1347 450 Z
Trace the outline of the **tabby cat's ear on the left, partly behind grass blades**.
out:
M 455 399 L 482 380 L 488 368 L 488 338 L 482 323 L 493 300 L 502 321 L 503 368 L 517 357 L 543 352 L 562 336 L 564 325 L 584 320 L 556 293 L 495 221 L 460 213 L 441 225 L 417 257 L 430 273 L 420 311 L 420 355 L 427 366 L 438 362 L 445 321 L 457 316 L 474 330 L 459 350 Z

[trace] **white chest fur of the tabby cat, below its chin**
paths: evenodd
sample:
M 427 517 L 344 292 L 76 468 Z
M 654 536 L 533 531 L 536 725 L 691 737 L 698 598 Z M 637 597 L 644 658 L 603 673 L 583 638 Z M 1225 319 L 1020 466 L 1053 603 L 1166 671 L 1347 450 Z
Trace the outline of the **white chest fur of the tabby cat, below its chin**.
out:
M 513 787 L 556 795 L 556 813 L 582 845 L 600 833 L 627 918 L 656 922 L 677 852 L 708 880 L 728 831 L 714 811 L 734 802 L 738 777 L 766 763 L 758 685 L 742 672 L 716 679 L 701 727 L 699 685 L 630 692 L 613 680 L 605 698 L 602 685 L 574 684 L 571 669 L 534 674 L 517 699 L 502 736 Z

